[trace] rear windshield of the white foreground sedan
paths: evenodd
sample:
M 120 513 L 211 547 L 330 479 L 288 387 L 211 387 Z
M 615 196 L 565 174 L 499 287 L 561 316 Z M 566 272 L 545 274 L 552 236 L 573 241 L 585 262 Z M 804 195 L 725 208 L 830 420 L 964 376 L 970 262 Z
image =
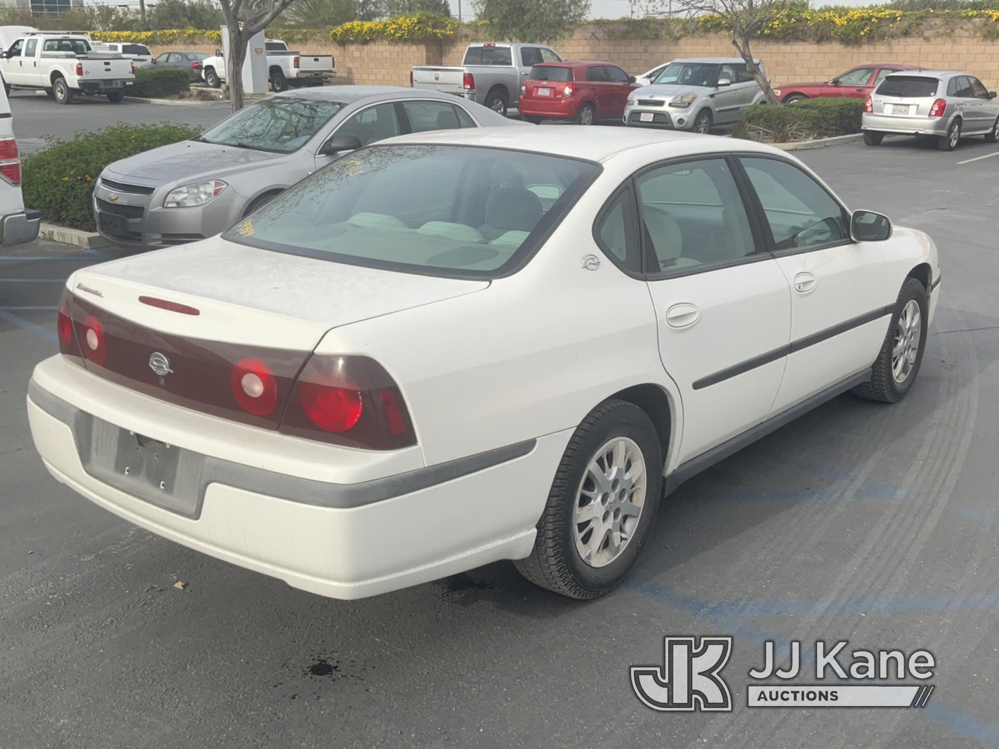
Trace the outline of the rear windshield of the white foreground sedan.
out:
M 514 269 L 599 172 L 591 162 L 462 146 L 373 146 L 321 169 L 225 238 L 435 276 Z

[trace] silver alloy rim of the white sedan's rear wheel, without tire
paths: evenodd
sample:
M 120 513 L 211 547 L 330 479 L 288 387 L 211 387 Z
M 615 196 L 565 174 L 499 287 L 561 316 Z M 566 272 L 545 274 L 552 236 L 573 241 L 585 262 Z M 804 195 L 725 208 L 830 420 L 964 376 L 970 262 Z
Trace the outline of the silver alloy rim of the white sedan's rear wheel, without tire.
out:
M 572 509 L 575 550 L 585 564 L 604 567 L 621 555 L 638 527 L 645 486 L 645 458 L 632 439 L 615 436 L 596 450 Z

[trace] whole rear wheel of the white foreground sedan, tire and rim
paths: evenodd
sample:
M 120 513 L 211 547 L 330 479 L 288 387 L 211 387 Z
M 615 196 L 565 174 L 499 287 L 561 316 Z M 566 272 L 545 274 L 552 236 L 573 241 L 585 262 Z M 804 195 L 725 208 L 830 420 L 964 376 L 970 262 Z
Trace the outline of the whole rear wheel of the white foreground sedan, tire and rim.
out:
M 627 574 L 655 522 L 662 447 L 645 412 L 605 400 L 569 438 L 537 522 L 534 548 L 514 562 L 531 582 L 596 598 Z

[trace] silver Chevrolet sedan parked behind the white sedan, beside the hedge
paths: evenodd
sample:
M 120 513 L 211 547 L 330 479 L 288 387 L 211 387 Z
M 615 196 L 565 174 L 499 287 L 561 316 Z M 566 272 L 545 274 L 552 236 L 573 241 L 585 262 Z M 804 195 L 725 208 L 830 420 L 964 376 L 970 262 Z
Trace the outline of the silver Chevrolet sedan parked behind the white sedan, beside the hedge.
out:
M 119 246 L 183 245 L 225 231 L 347 151 L 405 133 L 515 124 L 434 91 L 289 91 L 197 138 L 109 165 L 94 189 L 94 218 L 101 235 Z

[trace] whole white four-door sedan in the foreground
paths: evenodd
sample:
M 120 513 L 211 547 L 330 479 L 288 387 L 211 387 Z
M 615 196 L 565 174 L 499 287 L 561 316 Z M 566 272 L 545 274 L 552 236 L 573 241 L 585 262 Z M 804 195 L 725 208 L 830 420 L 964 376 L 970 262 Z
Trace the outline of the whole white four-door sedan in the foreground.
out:
M 28 412 L 63 483 L 299 588 L 513 559 L 591 598 L 684 479 L 845 390 L 903 397 L 939 284 L 929 237 L 769 146 L 418 133 L 76 272 Z

